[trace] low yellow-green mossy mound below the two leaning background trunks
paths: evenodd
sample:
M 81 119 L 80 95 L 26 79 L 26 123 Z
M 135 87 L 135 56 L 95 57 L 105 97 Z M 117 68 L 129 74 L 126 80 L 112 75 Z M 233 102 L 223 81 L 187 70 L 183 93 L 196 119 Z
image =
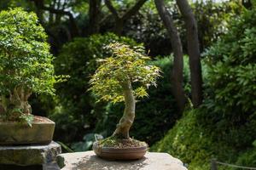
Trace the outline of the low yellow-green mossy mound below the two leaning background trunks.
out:
M 181 159 L 191 170 L 210 169 L 212 158 L 234 163 L 237 156 L 236 148 L 223 141 L 215 141 L 210 133 L 205 132 L 204 127 L 197 121 L 201 111 L 201 109 L 186 111 L 166 136 L 150 150 L 168 152 Z

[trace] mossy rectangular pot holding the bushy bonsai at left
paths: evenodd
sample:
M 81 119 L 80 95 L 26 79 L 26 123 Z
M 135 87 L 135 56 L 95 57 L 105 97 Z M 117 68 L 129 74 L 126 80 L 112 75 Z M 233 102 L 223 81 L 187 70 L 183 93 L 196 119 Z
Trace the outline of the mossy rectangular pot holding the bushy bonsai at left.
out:
M 0 144 L 49 144 L 52 141 L 55 122 L 46 117 L 32 122 L 32 127 L 20 122 L 0 122 Z

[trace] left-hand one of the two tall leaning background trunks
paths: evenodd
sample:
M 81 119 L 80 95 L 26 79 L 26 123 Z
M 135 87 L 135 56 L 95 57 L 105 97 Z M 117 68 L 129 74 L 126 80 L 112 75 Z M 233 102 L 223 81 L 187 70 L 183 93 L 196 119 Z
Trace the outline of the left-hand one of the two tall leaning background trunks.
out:
M 169 36 L 171 37 L 172 49 L 174 54 L 173 69 L 172 69 L 172 94 L 177 101 L 177 105 L 180 112 L 183 112 L 185 107 L 185 94 L 183 91 L 183 46 L 180 37 L 177 32 L 177 28 L 174 26 L 172 16 L 167 11 L 163 0 L 154 0 L 155 6 L 160 14 L 160 18 L 163 21 Z

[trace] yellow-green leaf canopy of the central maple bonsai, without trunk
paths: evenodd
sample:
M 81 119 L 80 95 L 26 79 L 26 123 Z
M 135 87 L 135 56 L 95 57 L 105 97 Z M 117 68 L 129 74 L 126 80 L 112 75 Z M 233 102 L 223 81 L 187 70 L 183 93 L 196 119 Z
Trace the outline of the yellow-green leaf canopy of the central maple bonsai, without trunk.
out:
M 113 55 L 107 59 L 98 59 L 101 65 L 90 80 L 90 90 L 100 97 L 100 100 L 113 103 L 124 101 L 123 83 L 140 82 L 134 90 L 136 98 L 147 96 L 146 88 L 156 86 L 156 78 L 160 69 L 155 65 L 147 65 L 150 59 L 144 55 L 142 47 L 130 48 L 121 43 L 109 44 Z

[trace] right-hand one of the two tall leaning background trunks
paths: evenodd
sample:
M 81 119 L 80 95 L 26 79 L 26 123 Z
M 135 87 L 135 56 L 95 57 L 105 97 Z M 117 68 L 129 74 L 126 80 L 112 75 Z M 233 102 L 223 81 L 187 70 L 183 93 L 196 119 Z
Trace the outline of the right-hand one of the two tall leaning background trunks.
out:
M 188 1 L 176 0 L 176 2 L 177 7 L 183 15 L 187 29 L 192 103 L 196 108 L 202 103 L 201 56 L 197 24 L 192 8 L 190 8 Z

